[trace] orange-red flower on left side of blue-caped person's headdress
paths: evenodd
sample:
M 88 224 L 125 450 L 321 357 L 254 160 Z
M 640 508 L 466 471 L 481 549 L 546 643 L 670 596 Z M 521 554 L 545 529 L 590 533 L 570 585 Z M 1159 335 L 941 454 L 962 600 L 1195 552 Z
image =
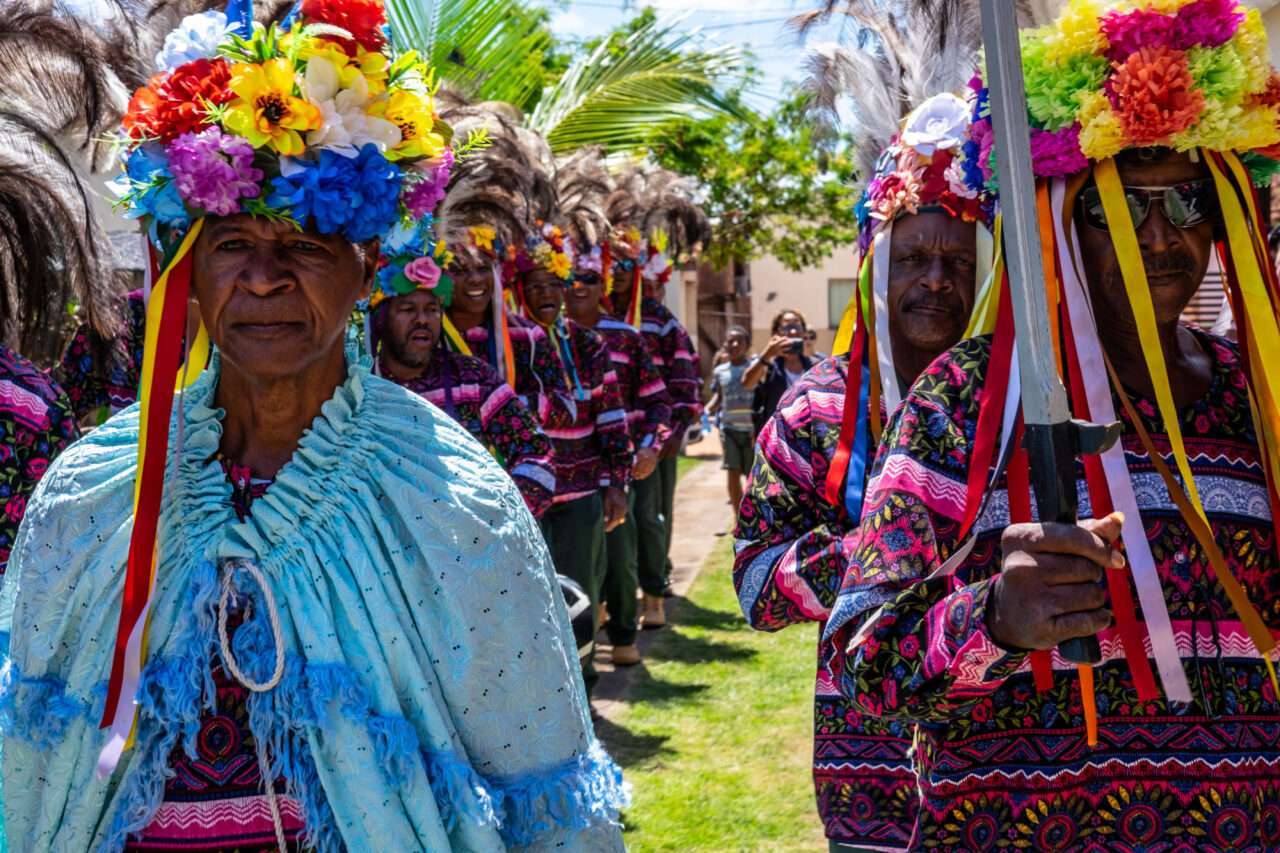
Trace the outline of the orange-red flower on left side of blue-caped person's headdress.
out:
M 172 142 L 207 123 L 207 106 L 236 97 L 230 68 L 223 59 L 197 59 L 168 74 L 156 74 L 134 92 L 124 114 L 124 131 L 133 140 Z

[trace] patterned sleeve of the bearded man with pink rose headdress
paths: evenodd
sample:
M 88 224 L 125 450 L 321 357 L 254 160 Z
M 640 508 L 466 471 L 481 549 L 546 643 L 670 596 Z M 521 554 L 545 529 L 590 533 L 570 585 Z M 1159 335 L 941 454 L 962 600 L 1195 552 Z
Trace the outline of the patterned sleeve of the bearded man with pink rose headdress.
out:
M 552 442 L 516 392 L 497 375 L 494 379 L 480 405 L 485 441 L 500 455 L 530 512 L 540 519 L 556 494 Z

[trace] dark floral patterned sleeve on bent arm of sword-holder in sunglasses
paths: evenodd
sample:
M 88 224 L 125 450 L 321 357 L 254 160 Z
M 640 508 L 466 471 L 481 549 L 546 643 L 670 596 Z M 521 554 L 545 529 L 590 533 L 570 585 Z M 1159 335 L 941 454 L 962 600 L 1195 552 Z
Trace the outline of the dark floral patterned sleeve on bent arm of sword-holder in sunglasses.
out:
M 987 630 L 989 579 L 929 579 L 960 544 L 986 357 L 966 342 L 931 365 L 882 441 L 827 625 L 833 683 L 872 716 L 945 722 L 1028 665 Z

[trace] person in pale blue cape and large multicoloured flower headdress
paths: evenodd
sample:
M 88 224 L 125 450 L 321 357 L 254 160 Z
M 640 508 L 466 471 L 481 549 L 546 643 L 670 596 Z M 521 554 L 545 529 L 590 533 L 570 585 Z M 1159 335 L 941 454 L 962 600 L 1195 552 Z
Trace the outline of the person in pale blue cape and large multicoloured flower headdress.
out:
M 347 334 L 448 169 L 431 69 L 378 0 L 250 5 L 188 19 L 125 117 L 143 382 L 50 469 L 0 590 L 8 839 L 618 850 L 535 520 Z

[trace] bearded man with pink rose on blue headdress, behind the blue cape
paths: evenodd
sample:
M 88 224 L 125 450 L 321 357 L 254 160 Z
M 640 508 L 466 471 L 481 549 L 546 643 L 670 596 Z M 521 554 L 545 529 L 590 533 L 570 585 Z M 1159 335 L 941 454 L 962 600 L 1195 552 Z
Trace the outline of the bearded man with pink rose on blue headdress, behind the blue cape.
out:
M 511 474 L 529 510 L 540 519 L 556 493 L 550 441 L 488 361 L 444 346 L 444 311 L 453 301 L 453 280 L 438 265 L 448 265 L 448 250 L 431 245 L 415 232 L 398 232 L 383 243 L 384 260 L 370 300 L 375 370 L 466 426 Z

